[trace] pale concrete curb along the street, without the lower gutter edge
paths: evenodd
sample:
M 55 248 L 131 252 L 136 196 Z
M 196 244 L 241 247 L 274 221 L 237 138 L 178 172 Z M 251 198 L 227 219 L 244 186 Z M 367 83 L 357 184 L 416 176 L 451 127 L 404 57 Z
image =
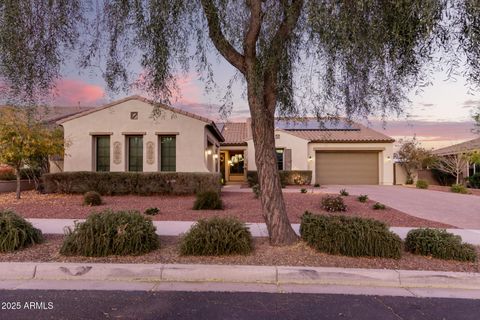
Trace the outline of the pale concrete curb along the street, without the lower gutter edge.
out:
M 149 283 L 240 283 L 480 290 L 480 273 L 326 267 L 0 263 L 0 281 L 87 280 Z

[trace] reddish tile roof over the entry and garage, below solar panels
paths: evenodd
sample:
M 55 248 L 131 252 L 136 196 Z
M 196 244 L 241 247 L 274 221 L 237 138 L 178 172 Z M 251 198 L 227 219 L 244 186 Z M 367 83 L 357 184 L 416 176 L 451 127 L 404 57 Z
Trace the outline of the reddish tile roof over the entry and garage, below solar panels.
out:
M 355 122 L 349 122 L 349 130 L 286 130 L 293 136 L 308 140 L 310 142 L 394 142 L 395 140 L 383 133 L 375 131 L 364 125 Z M 230 122 L 225 123 L 222 134 L 225 142 L 222 145 L 245 145 L 246 140 L 251 139 L 248 135 L 247 123 Z

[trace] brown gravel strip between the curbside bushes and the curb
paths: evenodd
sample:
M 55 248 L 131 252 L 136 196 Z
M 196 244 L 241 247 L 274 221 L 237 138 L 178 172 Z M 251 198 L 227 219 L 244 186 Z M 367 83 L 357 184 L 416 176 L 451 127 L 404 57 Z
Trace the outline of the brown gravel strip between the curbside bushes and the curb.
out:
M 383 258 L 352 258 L 317 252 L 304 242 L 285 247 L 272 247 L 266 238 L 256 238 L 255 251 L 249 255 L 226 257 L 187 257 L 178 250 L 178 237 L 160 237 L 161 248 L 142 256 L 110 256 L 103 258 L 65 257 L 58 252 L 61 235 L 46 235 L 46 241 L 15 253 L 0 253 L 0 261 L 8 262 L 89 262 L 89 263 L 198 263 L 239 265 L 285 265 L 310 267 L 343 267 L 373 269 L 436 270 L 479 272 L 479 262 L 458 262 L 412 255 L 404 252 L 399 260 Z M 480 247 L 477 247 L 480 254 Z

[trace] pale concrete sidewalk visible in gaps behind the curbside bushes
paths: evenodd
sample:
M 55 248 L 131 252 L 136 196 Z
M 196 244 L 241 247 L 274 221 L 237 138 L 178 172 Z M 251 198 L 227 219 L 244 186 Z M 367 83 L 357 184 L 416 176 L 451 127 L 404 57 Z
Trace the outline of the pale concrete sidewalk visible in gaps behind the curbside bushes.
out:
M 67 227 L 73 227 L 75 221 L 82 222 L 83 219 L 27 219 L 36 228 L 47 234 L 63 234 Z M 195 224 L 194 221 L 153 221 L 157 228 L 157 234 L 161 236 L 178 236 L 187 232 L 190 227 Z M 267 237 L 267 226 L 265 223 L 247 223 L 250 232 L 254 237 Z M 299 234 L 300 225 L 292 224 L 293 229 Z M 390 230 L 405 239 L 407 232 L 413 228 L 407 227 L 391 227 Z M 480 230 L 471 229 L 447 229 L 448 232 L 459 235 L 463 241 L 473 245 L 480 245 Z

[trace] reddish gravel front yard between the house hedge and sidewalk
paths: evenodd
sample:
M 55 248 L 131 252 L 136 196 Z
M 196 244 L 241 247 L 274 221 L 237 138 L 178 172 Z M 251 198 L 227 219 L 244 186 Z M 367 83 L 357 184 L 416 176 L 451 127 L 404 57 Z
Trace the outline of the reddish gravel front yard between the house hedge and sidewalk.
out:
M 290 222 L 299 223 L 303 213 L 308 210 L 313 213 L 327 214 L 320 206 L 321 198 L 325 194 L 284 193 Z M 15 200 L 13 193 L 0 194 L 0 209 L 12 209 L 25 218 L 86 218 L 93 211 L 104 209 L 138 210 L 144 212 L 150 207 L 160 209 L 160 214 L 153 216 L 153 220 L 163 221 L 196 221 L 212 216 L 234 216 L 244 222 L 264 222 L 260 200 L 255 199 L 252 193 L 223 192 L 224 210 L 193 210 L 194 196 L 110 196 L 103 197 L 104 204 L 89 207 L 82 204 L 81 195 L 38 194 L 27 191 L 22 199 Z M 395 227 L 437 227 L 452 228 L 452 226 L 417 218 L 396 209 L 373 210 L 374 201 L 361 203 L 355 196 L 344 197 L 347 211 L 340 214 L 373 218 L 386 222 Z

